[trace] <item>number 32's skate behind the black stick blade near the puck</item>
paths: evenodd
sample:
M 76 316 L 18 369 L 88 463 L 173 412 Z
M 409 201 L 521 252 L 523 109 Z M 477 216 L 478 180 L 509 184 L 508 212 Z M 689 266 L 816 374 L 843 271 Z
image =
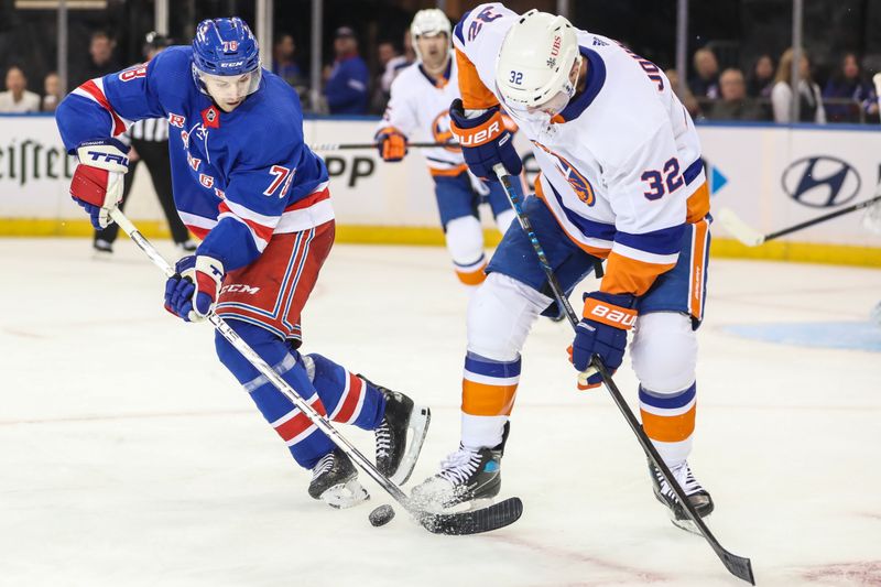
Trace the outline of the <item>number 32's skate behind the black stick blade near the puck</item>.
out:
M 492 448 L 459 449 L 440 464 L 440 472 L 413 488 L 413 499 L 426 509 L 447 509 L 465 502 L 491 500 L 502 487 L 501 460 L 508 442 L 509 423 L 502 442 Z

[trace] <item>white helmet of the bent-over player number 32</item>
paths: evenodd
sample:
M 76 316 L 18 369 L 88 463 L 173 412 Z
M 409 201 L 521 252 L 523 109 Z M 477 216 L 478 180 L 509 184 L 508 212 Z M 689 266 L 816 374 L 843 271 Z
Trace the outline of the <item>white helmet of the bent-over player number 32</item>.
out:
M 496 86 L 509 109 L 558 113 L 575 94 L 569 72 L 580 64 L 575 28 L 564 17 L 533 9 L 520 17 L 502 41 Z

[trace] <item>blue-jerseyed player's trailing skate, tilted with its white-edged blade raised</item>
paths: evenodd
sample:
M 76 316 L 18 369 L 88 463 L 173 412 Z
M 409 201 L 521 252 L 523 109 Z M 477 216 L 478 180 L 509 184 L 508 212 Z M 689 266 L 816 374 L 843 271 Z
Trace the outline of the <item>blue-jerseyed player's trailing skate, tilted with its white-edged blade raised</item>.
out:
M 358 377 L 368 381 L 363 376 Z M 395 485 L 404 485 L 416 466 L 432 412 L 428 407 L 414 405 L 413 400 L 403 393 L 368 382 L 385 396 L 385 413 L 374 431 L 377 469 Z M 412 432 L 409 441 L 407 431 Z

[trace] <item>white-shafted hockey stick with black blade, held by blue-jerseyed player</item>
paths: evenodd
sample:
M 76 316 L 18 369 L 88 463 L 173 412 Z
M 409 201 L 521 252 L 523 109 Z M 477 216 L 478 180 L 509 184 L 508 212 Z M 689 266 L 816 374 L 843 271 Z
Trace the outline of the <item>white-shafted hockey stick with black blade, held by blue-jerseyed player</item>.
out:
M 129 220 L 119 208 L 110 213 L 119 227 L 146 253 L 153 264 L 160 268 L 166 278 L 175 274 L 174 268 L 148 241 L 138 228 Z M 312 405 L 294 390 L 282 377 L 272 369 L 254 350 L 233 330 L 220 316 L 211 312 L 208 322 L 220 335 L 226 338 L 236 350 L 260 371 L 279 391 L 294 402 L 318 430 L 325 433 L 340 450 L 346 453 L 365 472 L 367 472 L 382 489 L 400 503 L 423 528 L 435 534 L 477 534 L 489 532 L 514 523 L 523 513 L 523 503 L 520 498 L 509 498 L 488 508 L 459 513 L 437 514 L 420 509 L 400 487 L 383 476 L 370 460 L 365 457 L 349 441 L 340 435 L 327 418 L 316 412 Z

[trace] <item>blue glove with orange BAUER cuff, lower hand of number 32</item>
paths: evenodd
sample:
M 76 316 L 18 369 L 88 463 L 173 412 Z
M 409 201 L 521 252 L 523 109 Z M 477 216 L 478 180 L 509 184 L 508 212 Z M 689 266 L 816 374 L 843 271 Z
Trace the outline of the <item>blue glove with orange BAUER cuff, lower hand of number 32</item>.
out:
M 572 363 L 578 371 L 590 366 L 596 355 L 609 371 L 621 366 L 627 348 L 627 331 L 637 322 L 633 309 L 637 298 L 631 294 L 608 294 L 592 292 L 585 294 L 585 309 L 581 322 L 575 329 L 572 344 Z M 587 378 L 587 384 L 578 384 L 579 389 L 592 389 L 602 382 L 599 373 Z

